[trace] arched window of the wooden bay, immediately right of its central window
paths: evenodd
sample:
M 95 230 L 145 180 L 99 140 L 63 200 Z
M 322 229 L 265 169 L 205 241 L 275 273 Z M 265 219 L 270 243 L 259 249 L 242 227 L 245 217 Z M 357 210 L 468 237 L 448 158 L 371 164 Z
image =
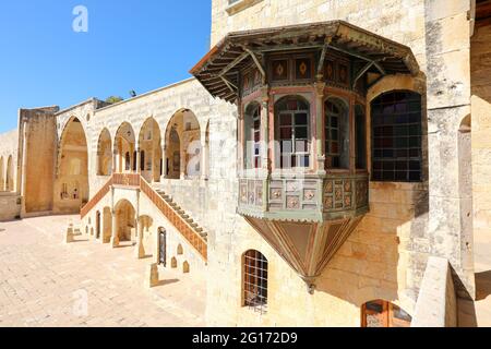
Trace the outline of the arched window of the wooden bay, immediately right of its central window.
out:
M 325 168 L 349 169 L 349 108 L 338 98 L 328 98 L 325 112 Z

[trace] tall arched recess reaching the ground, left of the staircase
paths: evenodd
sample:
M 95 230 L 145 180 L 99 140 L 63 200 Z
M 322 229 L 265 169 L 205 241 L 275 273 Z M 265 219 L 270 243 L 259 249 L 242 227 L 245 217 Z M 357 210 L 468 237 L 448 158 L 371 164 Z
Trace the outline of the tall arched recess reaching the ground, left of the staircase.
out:
M 56 181 L 57 210 L 79 213 L 88 202 L 88 153 L 82 122 L 73 118 L 61 135 Z

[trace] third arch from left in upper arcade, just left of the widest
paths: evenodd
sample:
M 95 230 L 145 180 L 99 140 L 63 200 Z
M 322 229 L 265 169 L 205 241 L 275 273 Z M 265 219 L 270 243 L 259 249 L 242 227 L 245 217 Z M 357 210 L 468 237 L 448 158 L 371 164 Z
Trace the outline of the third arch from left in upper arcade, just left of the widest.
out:
M 140 131 L 140 170 L 149 183 L 159 182 L 161 173 L 160 128 L 154 118 L 145 121 Z

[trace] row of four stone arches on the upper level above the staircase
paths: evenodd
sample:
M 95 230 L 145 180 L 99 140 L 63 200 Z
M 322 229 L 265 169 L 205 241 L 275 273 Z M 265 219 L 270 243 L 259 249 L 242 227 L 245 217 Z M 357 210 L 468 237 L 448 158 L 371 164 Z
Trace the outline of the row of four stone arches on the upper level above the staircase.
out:
M 137 139 L 129 122 L 119 127 L 113 142 L 109 131 L 104 129 L 97 144 L 97 176 L 136 172 L 149 183 L 159 182 L 161 178 L 206 177 L 209 124 L 204 139 L 205 142 L 202 143 L 200 123 L 189 109 L 181 109 L 172 116 L 165 137 L 154 118 L 144 122 Z

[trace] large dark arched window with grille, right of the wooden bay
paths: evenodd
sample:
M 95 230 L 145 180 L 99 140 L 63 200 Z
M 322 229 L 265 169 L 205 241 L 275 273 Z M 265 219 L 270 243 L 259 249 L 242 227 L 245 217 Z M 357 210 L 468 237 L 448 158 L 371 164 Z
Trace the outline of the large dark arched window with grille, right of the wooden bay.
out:
M 385 93 L 371 103 L 372 180 L 422 180 L 421 95 Z

